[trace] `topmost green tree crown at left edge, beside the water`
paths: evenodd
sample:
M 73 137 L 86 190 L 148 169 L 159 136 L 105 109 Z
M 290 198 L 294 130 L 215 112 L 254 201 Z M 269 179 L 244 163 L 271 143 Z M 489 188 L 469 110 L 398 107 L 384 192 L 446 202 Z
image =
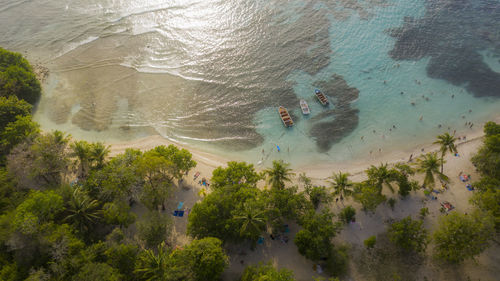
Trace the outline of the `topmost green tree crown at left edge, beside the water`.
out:
M 21 54 L 0 48 L 0 96 L 35 104 L 42 90 L 30 63 Z

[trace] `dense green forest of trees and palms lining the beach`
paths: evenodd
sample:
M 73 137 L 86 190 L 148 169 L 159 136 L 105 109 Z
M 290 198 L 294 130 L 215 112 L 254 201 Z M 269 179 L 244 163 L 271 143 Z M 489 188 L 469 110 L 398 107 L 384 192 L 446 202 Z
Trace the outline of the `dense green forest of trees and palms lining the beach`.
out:
M 229 162 L 213 171 L 209 190 L 188 217 L 192 241 L 180 247 L 169 243 L 173 222 L 165 204 L 196 166 L 191 153 L 170 145 L 109 157 L 102 143 L 42 132 L 31 119 L 40 91 L 29 63 L 0 49 L 0 280 L 220 280 L 229 261 L 226 245 L 254 248 L 266 231 L 282 233 L 291 222 L 300 226 L 293 237 L 299 253 L 342 277 L 348 250 L 332 238 L 355 220 L 356 209 L 347 205 L 334 214 L 329 203 L 350 197 L 373 212 L 394 204 L 382 190 L 404 198 L 431 189 L 447 181 L 443 156 L 456 151 L 445 134 L 437 141 L 440 154 L 426 154 L 413 166 L 371 166 L 363 182 L 333 173 L 327 187 L 300 174 L 299 188 L 282 161 L 260 173 Z M 388 237 L 404 253 L 426 255 L 432 245 L 437 259 L 461 263 L 483 252 L 500 230 L 500 125 L 489 122 L 484 130 L 473 158 L 482 175 L 471 198 L 476 210 L 443 216 L 432 234 L 422 224 L 425 210 L 420 218 L 393 222 Z M 415 173 L 424 175 L 422 184 Z M 258 188 L 260 181 L 267 188 Z M 133 212 L 136 204 L 147 214 Z M 367 248 L 376 243 L 375 237 L 365 241 Z M 241 280 L 294 277 L 262 263 L 248 266 Z

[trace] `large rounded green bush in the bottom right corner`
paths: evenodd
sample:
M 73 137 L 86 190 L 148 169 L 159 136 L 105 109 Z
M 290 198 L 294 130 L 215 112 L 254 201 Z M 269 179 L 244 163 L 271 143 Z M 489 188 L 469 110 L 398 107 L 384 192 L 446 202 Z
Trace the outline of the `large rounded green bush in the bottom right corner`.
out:
M 481 211 L 443 216 L 433 235 L 435 256 L 450 263 L 474 258 L 488 247 L 494 227 L 494 218 Z

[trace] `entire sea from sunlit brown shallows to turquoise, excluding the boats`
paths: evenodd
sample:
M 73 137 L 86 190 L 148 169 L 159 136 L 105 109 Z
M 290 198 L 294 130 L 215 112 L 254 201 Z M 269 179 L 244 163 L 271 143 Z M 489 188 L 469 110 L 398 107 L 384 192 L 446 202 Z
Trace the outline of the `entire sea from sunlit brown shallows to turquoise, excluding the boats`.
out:
M 300 166 L 411 149 L 495 116 L 499 15 L 490 0 L 0 0 L 0 45 L 50 69 L 35 115 L 44 129 L 159 133 Z M 296 126 L 283 127 L 279 105 Z

